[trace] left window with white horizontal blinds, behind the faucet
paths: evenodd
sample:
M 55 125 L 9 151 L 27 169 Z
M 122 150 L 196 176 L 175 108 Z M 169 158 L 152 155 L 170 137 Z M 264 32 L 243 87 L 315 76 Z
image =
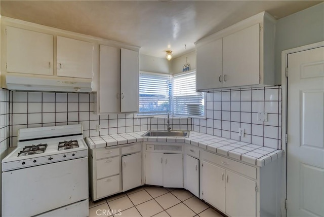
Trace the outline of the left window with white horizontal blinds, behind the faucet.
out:
M 162 115 L 171 112 L 172 76 L 140 73 L 140 115 Z

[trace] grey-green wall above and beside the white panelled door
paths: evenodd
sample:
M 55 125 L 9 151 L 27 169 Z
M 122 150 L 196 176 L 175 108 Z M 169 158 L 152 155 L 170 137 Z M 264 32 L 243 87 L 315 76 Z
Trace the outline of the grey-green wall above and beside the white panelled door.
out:
M 281 84 L 281 52 L 324 41 L 324 3 L 279 19 L 275 37 L 275 84 Z

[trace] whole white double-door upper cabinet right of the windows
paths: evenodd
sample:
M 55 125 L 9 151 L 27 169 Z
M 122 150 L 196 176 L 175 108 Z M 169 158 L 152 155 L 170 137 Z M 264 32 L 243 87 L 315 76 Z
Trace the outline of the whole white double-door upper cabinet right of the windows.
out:
M 274 36 L 262 12 L 196 42 L 196 89 L 274 85 Z

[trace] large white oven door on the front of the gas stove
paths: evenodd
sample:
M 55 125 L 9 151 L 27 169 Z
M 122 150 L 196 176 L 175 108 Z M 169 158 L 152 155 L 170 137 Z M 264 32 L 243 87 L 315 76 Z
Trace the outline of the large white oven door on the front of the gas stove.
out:
M 33 216 L 88 199 L 88 157 L 2 173 L 2 216 Z

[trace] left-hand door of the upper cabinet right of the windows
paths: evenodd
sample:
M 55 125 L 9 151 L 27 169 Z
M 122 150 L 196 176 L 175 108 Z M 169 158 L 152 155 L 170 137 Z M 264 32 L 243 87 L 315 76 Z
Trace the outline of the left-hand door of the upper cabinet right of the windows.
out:
M 196 90 L 222 87 L 222 39 L 197 46 L 196 58 Z

